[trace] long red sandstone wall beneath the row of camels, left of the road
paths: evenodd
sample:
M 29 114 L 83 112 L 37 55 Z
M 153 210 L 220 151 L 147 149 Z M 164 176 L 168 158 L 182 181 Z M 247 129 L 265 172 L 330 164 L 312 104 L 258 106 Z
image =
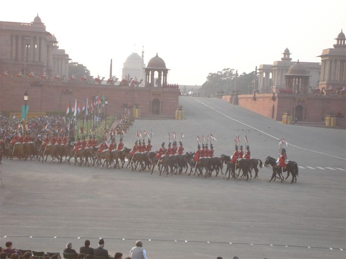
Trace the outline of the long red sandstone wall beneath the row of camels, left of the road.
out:
M 24 104 L 24 92 L 28 89 L 30 111 L 66 111 L 70 102 L 74 105 L 75 99 L 82 104 L 87 98 L 94 95 L 105 95 L 108 99 L 107 113 L 124 111 L 121 106 L 124 103 L 139 104 L 141 114 L 147 115 L 150 112 L 150 101 L 158 98 L 162 102 L 162 115 L 174 116 L 178 107 L 178 90 L 153 88 L 161 91 L 160 95 L 152 96 L 151 89 L 118 87 L 106 85 L 93 85 L 82 83 L 55 83 L 45 82 L 42 87 L 31 86 L 32 81 L 27 79 L 0 80 L 0 111 L 21 111 Z M 64 89 L 71 89 L 72 95 L 61 94 Z M 82 109 L 82 107 L 81 107 Z

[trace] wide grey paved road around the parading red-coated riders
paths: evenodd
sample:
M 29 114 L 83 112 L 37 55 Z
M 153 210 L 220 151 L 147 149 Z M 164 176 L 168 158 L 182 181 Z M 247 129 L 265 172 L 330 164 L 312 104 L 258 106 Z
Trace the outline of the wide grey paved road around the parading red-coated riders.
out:
M 62 252 L 68 241 L 78 249 L 103 237 L 112 255 L 142 239 L 149 259 L 345 258 L 345 130 L 282 125 L 216 99 L 180 104 L 185 120 L 136 120 L 126 146 L 137 130 L 153 129 L 154 149 L 183 131 L 187 151 L 213 133 L 216 155 L 229 154 L 239 133 L 263 161 L 285 138 L 298 182 L 268 183 L 266 168 L 245 182 L 3 160 L 0 244 Z

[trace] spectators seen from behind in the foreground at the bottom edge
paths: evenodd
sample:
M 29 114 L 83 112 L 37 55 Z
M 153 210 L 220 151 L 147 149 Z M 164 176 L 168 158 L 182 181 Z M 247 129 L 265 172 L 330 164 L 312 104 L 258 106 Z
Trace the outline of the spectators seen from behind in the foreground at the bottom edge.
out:
M 20 250 L 12 247 L 12 242 L 6 242 L 6 248 L 1 249 L 0 259 L 61 259 L 60 253 L 44 253 L 31 250 Z M 109 259 L 113 258 L 108 254 L 108 250 L 104 249 L 104 239 L 98 241 L 97 248 L 90 247 L 90 241 L 84 242 L 79 253 L 72 248 L 72 243 L 68 242 L 63 250 L 64 259 Z M 123 254 L 115 253 L 114 259 L 123 259 Z M 136 241 L 136 246 L 132 247 L 129 256 L 124 259 L 147 259 L 146 251 L 143 248 L 141 240 Z

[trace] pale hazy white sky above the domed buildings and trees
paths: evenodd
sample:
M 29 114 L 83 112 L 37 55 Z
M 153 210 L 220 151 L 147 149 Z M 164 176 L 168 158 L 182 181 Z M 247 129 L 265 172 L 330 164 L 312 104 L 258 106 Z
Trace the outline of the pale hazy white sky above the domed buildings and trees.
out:
M 132 53 L 156 55 L 171 69 L 168 83 L 201 85 L 224 68 L 249 73 L 291 57 L 320 62 L 341 29 L 346 0 L 3 0 L 0 20 L 32 22 L 39 13 L 59 48 L 91 75 L 121 77 Z M 135 47 L 134 47 L 135 44 Z

